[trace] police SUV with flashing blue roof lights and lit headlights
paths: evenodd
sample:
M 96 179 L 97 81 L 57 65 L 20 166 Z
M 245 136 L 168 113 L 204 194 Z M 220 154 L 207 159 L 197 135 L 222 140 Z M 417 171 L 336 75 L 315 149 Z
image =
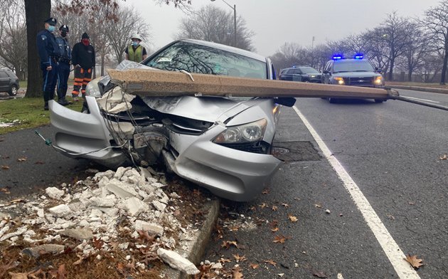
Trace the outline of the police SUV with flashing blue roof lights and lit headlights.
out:
M 359 54 L 351 59 L 333 56 L 333 59 L 325 64 L 322 83 L 384 88 L 385 82 L 381 71 Z M 336 102 L 335 98 L 328 99 L 330 102 Z M 375 99 L 375 102 L 385 102 L 385 99 Z

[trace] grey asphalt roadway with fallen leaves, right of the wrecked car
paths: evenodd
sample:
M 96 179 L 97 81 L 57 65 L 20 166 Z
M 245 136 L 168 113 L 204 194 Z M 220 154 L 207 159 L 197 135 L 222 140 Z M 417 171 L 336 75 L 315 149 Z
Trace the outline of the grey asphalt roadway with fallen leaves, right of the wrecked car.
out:
M 448 95 L 400 94 L 448 105 Z M 235 255 L 245 256 L 245 278 L 448 278 L 448 160 L 440 159 L 448 154 L 448 112 L 398 100 L 304 98 L 296 107 L 371 210 L 361 213 L 359 197 L 347 190 L 356 187 L 346 189 L 297 112 L 285 109 L 277 145 L 309 141 L 320 158 L 286 162 L 269 193 L 255 201 L 226 202 L 222 216 L 238 225 L 224 228 L 223 238 L 215 234 L 204 259 L 230 258 L 226 266 L 233 266 Z M 383 231 L 368 225 L 372 216 Z M 275 221 L 279 230 L 272 232 Z M 256 226 L 245 228 L 252 222 Z M 276 236 L 286 240 L 274 243 Z M 223 241 L 237 241 L 239 248 L 223 248 Z M 400 257 L 408 253 L 423 259 L 417 272 Z

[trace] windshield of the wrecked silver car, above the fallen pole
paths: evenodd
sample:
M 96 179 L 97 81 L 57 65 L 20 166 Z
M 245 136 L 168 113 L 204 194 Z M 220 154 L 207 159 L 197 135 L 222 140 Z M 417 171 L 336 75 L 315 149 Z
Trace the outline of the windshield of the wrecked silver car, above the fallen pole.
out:
M 161 70 L 186 70 L 188 73 L 267 78 L 266 63 L 195 43 L 178 42 L 146 62 Z

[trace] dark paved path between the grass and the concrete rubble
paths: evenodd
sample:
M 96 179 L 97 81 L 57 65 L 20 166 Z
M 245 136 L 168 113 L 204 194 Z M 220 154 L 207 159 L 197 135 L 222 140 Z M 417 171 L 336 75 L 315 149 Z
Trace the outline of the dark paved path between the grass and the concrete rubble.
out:
M 85 169 L 90 164 L 63 156 L 38 137 L 53 137 L 52 127 L 45 126 L 0 135 L 0 200 L 9 200 L 23 194 L 58 186 L 65 182 L 87 177 Z

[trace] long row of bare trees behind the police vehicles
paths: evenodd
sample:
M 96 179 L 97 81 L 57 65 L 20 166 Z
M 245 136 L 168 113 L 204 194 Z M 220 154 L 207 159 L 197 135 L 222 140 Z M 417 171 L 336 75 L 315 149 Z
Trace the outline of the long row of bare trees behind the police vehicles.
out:
M 284 43 L 271 59 L 278 70 L 292 65 L 311 65 L 321 70 L 335 53 L 343 53 L 346 58 L 363 53 L 383 70 L 387 80 L 393 80 L 395 72 L 405 72 L 409 81 L 412 75 L 419 75 L 424 82 L 444 85 L 448 62 L 448 1 L 442 0 L 438 6 L 428 9 L 421 19 L 399 16 L 394 11 L 375 28 L 314 48 Z

